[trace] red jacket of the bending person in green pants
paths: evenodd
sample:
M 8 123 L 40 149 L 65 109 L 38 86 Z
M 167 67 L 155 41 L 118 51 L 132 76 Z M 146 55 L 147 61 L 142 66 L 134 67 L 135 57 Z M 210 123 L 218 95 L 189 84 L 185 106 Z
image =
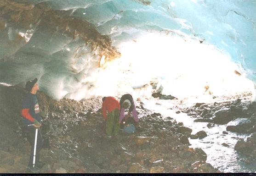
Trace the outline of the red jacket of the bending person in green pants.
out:
M 102 114 L 105 121 L 107 120 L 107 111 L 111 112 L 115 109 L 120 110 L 119 101 L 116 100 L 114 97 L 106 97 L 102 103 Z

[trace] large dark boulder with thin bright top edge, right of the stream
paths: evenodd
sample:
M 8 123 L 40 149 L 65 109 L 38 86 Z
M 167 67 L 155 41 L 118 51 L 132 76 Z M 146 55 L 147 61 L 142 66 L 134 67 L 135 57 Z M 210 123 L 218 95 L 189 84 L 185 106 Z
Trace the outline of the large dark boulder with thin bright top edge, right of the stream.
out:
M 233 119 L 235 119 L 235 116 L 231 113 L 231 110 L 229 108 L 222 108 L 215 112 L 215 116 L 212 121 L 216 124 L 224 125 Z

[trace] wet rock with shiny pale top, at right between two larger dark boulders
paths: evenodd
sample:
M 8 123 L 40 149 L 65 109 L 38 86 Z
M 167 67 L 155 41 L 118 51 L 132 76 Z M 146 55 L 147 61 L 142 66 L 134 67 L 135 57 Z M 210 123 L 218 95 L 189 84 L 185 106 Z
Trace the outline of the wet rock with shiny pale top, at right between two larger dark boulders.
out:
M 241 119 L 236 119 L 233 121 L 230 121 L 227 124 L 227 131 L 230 132 L 246 132 L 250 127 L 252 127 L 253 124 L 249 119 L 246 118 L 241 118 Z

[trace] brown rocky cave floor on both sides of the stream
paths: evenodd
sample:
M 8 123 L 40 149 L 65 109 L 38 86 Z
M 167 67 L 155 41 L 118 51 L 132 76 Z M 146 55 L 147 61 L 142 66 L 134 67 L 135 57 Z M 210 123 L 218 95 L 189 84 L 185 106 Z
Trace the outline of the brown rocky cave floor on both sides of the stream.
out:
M 26 173 L 30 146 L 20 128 L 23 88 L 0 87 L 0 173 Z M 41 150 L 45 165 L 40 173 L 202 173 L 219 172 L 200 148 L 191 148 L 189 140 L 203 138 L 204 132 L 191 135 L 192 129 L 176 123 L 172 117 L 143 108 L 136 101 L 140 117 L 137 131 L 113 139 L 101 133 L 101 98 L 56 101 L 38 92 L 44 110 L 42 131 L 50 139 L 50 148 Z M 172 97 L 171 97 L 172 98 Z M 253 159 L 256 139 L 253 132 L 255 104 L 239 99 L 224 103 L 195 104 L 180 108 L 195 121 L 229 124 L 227 131 L 252 133 L 239 140 L 236 149 Z M 177 113 L 179 113 L 177 111 Z

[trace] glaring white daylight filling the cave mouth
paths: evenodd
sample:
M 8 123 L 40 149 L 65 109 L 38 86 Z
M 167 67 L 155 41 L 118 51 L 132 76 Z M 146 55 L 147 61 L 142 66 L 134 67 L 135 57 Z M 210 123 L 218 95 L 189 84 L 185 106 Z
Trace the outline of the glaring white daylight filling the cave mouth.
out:
M 234 73 L 237 67 L 228 54 L 198 40 L 150 33 L 119 50 L 121 79 L 133 88 L 159 77 L 163 94 L 197 100 L 254 89 L 250 80 Z

